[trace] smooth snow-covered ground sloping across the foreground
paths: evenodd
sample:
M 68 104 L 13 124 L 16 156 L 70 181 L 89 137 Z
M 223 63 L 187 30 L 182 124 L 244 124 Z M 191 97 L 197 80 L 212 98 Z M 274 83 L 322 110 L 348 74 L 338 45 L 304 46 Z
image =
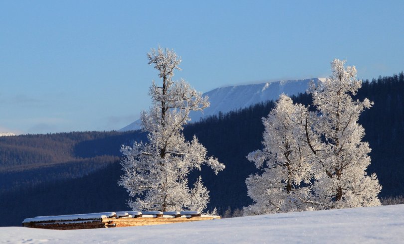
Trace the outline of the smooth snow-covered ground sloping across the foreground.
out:
M 404 205 L 160 226 L 53 231 L 0 228 L 1 243 L 403 243 Z

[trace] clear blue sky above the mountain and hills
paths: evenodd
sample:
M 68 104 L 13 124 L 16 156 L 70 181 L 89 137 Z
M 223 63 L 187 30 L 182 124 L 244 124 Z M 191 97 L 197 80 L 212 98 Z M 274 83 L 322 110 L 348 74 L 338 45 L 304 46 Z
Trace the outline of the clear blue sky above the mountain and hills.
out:
M 197 90 L 404 70 L 404 1 L 0 1 L 0 131 L 119 129 L 139 118 L 174 48 Z

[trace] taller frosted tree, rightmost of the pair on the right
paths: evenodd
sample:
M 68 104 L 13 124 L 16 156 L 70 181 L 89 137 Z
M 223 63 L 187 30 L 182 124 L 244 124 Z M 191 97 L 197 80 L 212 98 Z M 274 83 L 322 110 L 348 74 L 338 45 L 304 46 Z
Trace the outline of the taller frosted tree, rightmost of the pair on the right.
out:
M 382 187 L 376 174 L 366 173 L 371 149 L 361 141 L 365 130 L 358 123 L 361 112 L 372 107 L 373 102 L 352 99 L 362 81 L 356 79 L 355 66 L 344 68 L 344 64 L 345 60 L 332 61 L 332 76 L 311 87 L 319 116 L 306 128 L 314 129 L 323 138 L 322 143 L 311 147 L 318 162 L 313 188 L 320 209 L 381 204 L 378 194 Z

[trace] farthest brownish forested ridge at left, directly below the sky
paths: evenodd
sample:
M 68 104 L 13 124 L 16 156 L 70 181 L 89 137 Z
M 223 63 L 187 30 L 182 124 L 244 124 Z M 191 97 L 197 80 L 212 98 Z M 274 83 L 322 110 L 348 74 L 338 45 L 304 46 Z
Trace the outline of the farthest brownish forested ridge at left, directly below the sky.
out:
M 135 132 L 87 131 L 1 136 L 0 173 L 81 162 L 100 156 L 117 157 L 121 155 L 119 150 L 122 142 L 130 144 L 136 135 Z M 116 141 L 115 138 L 119 139 Z M 105 139 L 107 141 L 102 142 Z M 96 161 L 103 160 L 97 158 Z

